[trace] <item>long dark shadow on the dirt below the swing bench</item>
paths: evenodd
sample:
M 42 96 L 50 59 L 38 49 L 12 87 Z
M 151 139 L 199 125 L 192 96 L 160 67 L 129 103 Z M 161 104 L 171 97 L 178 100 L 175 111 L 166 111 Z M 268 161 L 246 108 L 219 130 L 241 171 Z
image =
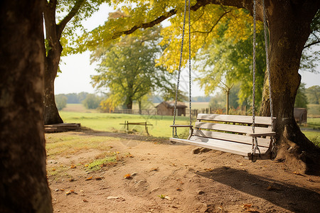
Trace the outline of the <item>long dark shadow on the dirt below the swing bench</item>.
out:
M 196 172 L 196 174 L 229 185 L 248 195 L 260 197 L 292 212 L 318 213 L 320 210 L 320 194 L 297 185 L 229 167 L 216 168 L 210 172 Z

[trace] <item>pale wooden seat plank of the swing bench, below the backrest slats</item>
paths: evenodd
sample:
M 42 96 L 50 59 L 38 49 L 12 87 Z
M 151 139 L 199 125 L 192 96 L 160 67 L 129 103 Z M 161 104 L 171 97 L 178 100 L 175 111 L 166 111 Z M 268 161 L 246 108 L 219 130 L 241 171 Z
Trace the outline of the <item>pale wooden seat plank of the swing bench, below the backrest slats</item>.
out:
M 210 148 L 217 151 L 223 151 L 226 153 L 233 153 L 236 155 L 242 155 L 249 157 L 251 155 L 252 146 L 245 143 L 235 143 L 230 141 L 221 141 L 211 138 L 201 138 L 193 136 L 193 140 L 185 140 L 181 138 L 170 138 L 170 141 L 186 143 L 193 146 L 201 146 Z M 260 152 L 262 155 L 268 151 L 268 148 L 261 147 Z

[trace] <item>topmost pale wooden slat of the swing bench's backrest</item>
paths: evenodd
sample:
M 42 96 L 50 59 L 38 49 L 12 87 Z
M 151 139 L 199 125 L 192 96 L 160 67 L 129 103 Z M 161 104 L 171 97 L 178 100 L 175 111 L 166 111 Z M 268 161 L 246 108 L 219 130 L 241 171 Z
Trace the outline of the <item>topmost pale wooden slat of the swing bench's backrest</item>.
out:
M 240 115 L 198 114 L 197 120 L 252 124 L 252 116 L 240 116 Z M 255 116 L 255 124 L 270 126 L 272 124 L 271 117 Z

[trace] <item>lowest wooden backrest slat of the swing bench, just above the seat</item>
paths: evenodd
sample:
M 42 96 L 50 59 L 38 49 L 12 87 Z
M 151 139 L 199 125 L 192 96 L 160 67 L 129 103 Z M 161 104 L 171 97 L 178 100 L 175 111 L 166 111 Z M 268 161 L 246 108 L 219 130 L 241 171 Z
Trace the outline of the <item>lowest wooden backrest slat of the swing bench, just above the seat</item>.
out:
M 221 139 L 225 141 L 233 141 L 233 142 L 239 142 L 239 143 L 247 143 L 252 144 L 252 136 L 244 136 L 239 134 L 233 134 L 233 133 L 223 133 L 218 131 L 206 131 L 206 130 L 200 130 L 196 129 L 193 131 L 194 136 L 200 136 L 204 138 L 215 138 L 215 139 Z M 192 137 L 191 137 L 192 138 Z M 257 138 L 258 146 L 263 147 L 270 147 L 270 138 Z

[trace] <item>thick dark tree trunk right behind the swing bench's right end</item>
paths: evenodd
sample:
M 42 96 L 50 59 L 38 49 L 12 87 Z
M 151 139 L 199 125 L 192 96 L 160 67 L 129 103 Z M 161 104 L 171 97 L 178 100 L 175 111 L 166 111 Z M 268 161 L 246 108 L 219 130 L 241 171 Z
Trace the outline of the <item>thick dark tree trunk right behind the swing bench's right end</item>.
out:
M 294 100 L 301 80 L 298 73 L 300 58 L 310 34 L 310 23 L 319 9 L 319 4 L 316 6 L 293 4 L 291 1 L 272 1 L 266 6 L 270 31 L 268 55 L 272 106 L 274 116 L 277 117 L 277 158 L 286 160 L 301 172 L 319 172 L 319 148 L 304 136 L 294 120 Z M 266 78 L 260 110 L 262 116 L 270 116 L 269 104 Z

